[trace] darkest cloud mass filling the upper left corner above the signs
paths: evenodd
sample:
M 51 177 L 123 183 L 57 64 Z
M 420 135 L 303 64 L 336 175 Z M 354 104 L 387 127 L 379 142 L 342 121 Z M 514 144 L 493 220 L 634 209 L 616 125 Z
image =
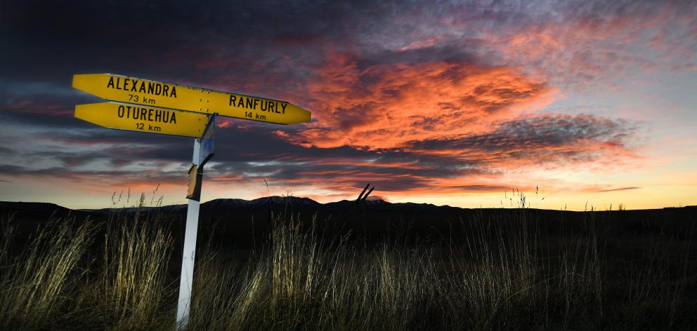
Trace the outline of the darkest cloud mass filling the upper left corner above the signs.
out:
M 299 44 L 317 49 L 343 41 L 349 37 L 348 22 L 372 11 L 354 1 L 15 1 L 6 6 L 0 36 L 13 52 L 1 55 L 2 72 L 13 79 L 55 82 L 75 72 L 197 83 L 221 74 L 209 77 L 207 67 L 239 71 L 240 79 L 261 68 L 287 74 L 278 63 L 284 55 L 313 58 L 315 52 Z

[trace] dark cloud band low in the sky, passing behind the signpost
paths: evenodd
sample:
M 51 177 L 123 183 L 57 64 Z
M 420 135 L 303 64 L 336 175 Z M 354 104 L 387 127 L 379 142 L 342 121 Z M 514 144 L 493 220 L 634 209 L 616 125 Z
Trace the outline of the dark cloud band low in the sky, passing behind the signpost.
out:
M 97 129 L 100 130 L 100 129 Z M 32 168 L 4 165 L 0 171 L 15 177 L 39 176 L 84 179 L 123 184 L 124 181 L 148 180 L 150 182 L 181 182 L 185 170 L 163 172 L 162 165 L 179 163 L 184 169 L 190 161 L 191 140 L 187 138 L 143 135 L 113 130 L 84 130 L 98 135 L 93 140 L 80 141 L 80 133 L 56 134 L 53 141 L 80 148 L 82 144 L 101 146 L 89 151 L 39 151 L 27 158 L 39 161 L 56 161 L 62 167 Z M 419 156 L 399 151 L 385 151 L 376 156 L 369 151 L 348 147 L 333 149 L 306 149 L 288 144 L 276 135 L 261 130 L 235 130 L 218 128 L 216 155 L 207 167 L 212 180 L 249 181 L 269 178 L 277 183 L 294 184 L 301 181 L 325 187 L 362 187 L 366 180 L 378 185 L 382 191 L 404 191 L 429 187 L 434 177 L 457 177 L 478 173 L 476 168 L 462 169 L 453 166 L 457 161 L 444 156 Z M 173 142 L 172 140 L 178 140 Z M 21 154 L 21 147 L 12 151 Z M 110 167 L 100 170 L 84 170 L 90 163 L 105 161 Z M 146 164 L 147 171 L 133 170 L 134 165 Z M 408 165 L 408 167 L 404 167 Z M 131 168 L 129 168 L 131 167 Z M 124 177 L 126 175 L 126 177 Z M 127 179 L 126 179 L 127 178 Z

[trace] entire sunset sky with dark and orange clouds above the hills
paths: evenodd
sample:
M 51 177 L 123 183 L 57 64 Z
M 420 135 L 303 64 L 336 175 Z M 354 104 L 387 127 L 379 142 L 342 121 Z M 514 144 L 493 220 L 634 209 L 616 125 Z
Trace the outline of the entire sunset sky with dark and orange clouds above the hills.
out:
M 73 117 L 112 73 L 285 100 L 219 118 L 202 201 L 697 205 L 694 1 L 3 1 L 0 200 L 185 203 L 193 139 Z

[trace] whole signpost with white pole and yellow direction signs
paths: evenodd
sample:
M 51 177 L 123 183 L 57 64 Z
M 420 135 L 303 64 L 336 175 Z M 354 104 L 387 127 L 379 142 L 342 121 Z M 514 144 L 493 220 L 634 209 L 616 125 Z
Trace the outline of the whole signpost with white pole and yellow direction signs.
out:
M 295 124 L 309 122 L 311 114 L 285 101 L 115 74 L 76 74 L 72 87 L 115 101 L 77 104 L 78 119 L 105 128 L 196 138 L 186 196 L 188 209 L 176 314 L 177 328 L 183 329 L 191 304 L 203 168 L 213 156 L 217 116 Z

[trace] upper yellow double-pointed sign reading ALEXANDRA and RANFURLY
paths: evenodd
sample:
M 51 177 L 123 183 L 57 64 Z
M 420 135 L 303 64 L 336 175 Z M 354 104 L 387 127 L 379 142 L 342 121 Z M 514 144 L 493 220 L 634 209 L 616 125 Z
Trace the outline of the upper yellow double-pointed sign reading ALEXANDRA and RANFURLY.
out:
M 114 74 L 76 74 L 72 76 L 72 87 L 107 100 L 252 121 L 295 124 L 309 122 L 311 116 L 285 101 Z

